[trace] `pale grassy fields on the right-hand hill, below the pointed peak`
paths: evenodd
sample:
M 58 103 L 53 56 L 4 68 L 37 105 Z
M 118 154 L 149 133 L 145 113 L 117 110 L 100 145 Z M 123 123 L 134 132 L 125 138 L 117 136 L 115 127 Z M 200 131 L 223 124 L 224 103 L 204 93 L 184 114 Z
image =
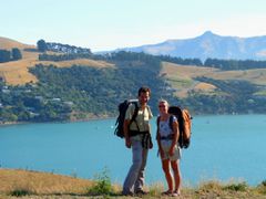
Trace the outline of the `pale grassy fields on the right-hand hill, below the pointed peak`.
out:
M 266 69 L 221 71 L 218 69 L 178 65 L 168 62 L 163 62 L 162 65 L 161 74 L 164 74 L 165 81 L 176 90 L 175 94 L 178 97 L 186 97 L 192 90 L 209 95 L 214 94 L 215 85 L 194 80 L 201 76 L 221 81 L 247 81 L 252 84 L 266 86 Z

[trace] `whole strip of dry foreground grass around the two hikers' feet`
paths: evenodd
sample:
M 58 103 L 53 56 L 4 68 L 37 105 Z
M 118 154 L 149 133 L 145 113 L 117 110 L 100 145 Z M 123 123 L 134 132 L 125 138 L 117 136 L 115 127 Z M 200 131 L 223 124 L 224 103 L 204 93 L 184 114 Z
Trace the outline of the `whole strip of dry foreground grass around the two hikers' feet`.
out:
M 99 198 L 102 195 L 105 195 L 106 198 L 130 198 L 121 196 L 120 185 L 108 187 L 105 184 L 108 181 L 108 178 L 92 181 L 48 172 L 0 169 L 0 198 L 12 198 L 12 196 L 23 196 L 23 198 Z M 146 189 L 150 190 L 150 193 L 143 198 L 167 198 L 161 196 L 164 190 L 162 182 L 154 184 Z M 266 198 L 266 182 L 263 181 L 256 187 L 249 187 L 244 181 L 227 184 L 205 181 L 197 187 L 183 187 L 178 198 L 263 199 Z

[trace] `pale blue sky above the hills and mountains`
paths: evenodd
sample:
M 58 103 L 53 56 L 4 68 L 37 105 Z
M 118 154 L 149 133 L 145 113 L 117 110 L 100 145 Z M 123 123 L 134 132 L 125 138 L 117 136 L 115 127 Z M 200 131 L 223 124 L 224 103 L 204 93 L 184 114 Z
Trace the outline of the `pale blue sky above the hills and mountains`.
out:
M 0 0 L 0 36 L 92 52 L 219 35 L 266 35 L 266 0 Z

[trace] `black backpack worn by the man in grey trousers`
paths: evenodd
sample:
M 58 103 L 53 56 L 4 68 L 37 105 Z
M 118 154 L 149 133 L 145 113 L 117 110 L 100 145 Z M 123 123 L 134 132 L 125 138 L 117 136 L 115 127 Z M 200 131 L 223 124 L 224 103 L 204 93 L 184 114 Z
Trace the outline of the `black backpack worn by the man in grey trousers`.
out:
M 116 118 L 115 122 L 115 129 L 114 129 L 114 135 L 124 138 L 124 118 L 125 118 L 125 112 L 127 109 L 127 107 L 130 106 L 130 104 L 134 104 L 135 105 L 135 111 L 134 114 L 132 116 L 132 119 L 130 122 L 130 124 L 135 121 L 137 112 L 139 112 L 139 106 L 137 106 L 137 100 L 126 100 L 123 103 L 120 103 L 119 105 L 119 116 Z

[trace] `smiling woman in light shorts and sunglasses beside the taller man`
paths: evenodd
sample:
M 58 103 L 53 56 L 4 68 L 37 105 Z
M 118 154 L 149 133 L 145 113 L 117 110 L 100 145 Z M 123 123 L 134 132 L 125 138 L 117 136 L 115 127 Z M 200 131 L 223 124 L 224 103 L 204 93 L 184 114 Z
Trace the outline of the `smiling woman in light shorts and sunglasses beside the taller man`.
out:
M 163 192 L 163 195 L 178 196 L 181 187 L 181 149 L 177 142 L 180 136 L 178 123 L 175 116 L 168 114 L 167 101 L 160 101 L 158 109 L 160 116 L 157 117 L 156 139 L 162 159 L 163 171 L 168 186 L 168 190 Z M 170 167 L 172 168 L 174 176 L 172 176 Z M 173 186 L 174 182 L 175 186 Z

